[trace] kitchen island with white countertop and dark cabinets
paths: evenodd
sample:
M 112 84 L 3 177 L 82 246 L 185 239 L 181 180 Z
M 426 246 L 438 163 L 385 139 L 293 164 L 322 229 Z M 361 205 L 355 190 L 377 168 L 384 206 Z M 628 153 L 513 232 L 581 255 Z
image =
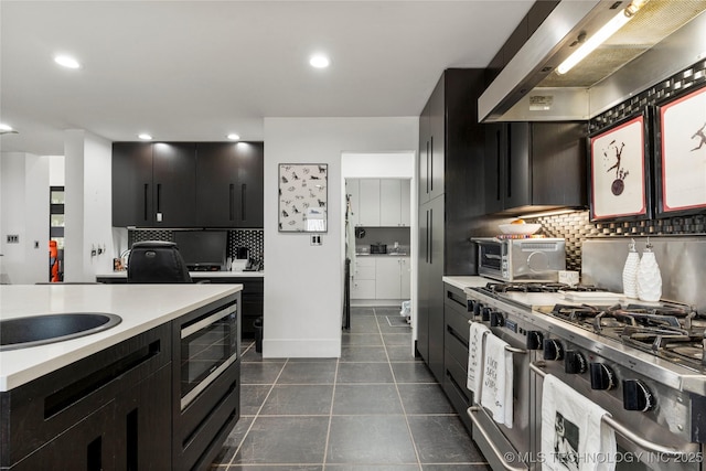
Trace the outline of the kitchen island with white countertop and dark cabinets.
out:
M 239 335 L 232 335 L 237 354 L 185 404 L 184 382 L 196 375 L 184 366 L 193 362 L 182 362 L 183 347 L 195 345 L 183 332 L 222 312 L 235 329 L 240 291 L 210 283 L 1 286 L 1 320 L 101 312 L 121 322 L 0 352 L 0 469 L 207 469 L 239 418 Z

